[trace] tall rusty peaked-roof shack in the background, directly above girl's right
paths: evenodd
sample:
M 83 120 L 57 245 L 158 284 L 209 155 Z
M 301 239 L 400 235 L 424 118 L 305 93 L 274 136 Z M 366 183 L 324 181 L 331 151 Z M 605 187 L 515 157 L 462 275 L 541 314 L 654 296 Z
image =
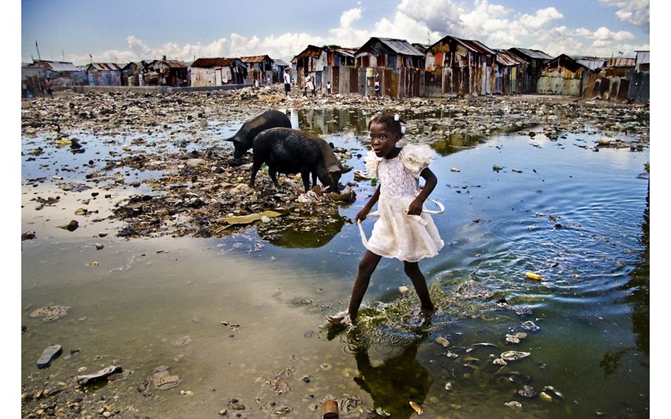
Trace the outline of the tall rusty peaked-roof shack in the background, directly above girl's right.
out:
M 492 94 L 496 52 L 479 41 L 444 37 L 431 45 L 435 70 L 426 72 L 428 94 Z

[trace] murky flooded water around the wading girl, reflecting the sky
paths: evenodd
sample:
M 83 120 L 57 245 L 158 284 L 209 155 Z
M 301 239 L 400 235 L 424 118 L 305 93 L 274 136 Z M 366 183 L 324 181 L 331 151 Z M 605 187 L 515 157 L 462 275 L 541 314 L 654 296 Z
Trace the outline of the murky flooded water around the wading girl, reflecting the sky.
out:
M 355 169 L 363 169 L 367 118 L 355 110 L 292 113 L 295 127 L 350 150 Z M 222 126 L 220 135 L 239 126 Z M 122 417 L 216 417 L 227 409 L 316 418 L 328 396 L 345 400 L 344 418 L 367 417 L 362 407 L 377 409 L 370 417 L 410 418 L 410 401 L 429 418 L 648 417 L 649 150 L 595 152 L 603 133 L 590 129 L 554 141 L 543 127 L 533 131 L 446 135 L 433 144 L 431 197 L 446 207 L 433 219 L 446 246 L 420 267 L 439 311 L 419 316 L 402 263 L 383 259 L 354 331 L 326 318 L 349 302 L 363 254 L 351 220 L 373 193 L 367 181 L 319 234 L 287 230 L 265 240 L 251 228 L 225 238 L 129 241 L 115 236 L 123 225 L 107 218 L 100 197 L 147 193 L 128 184 L 158 174 L 112 168 L 109 184 L 121 176 L 125 186 L 63 192 L 58 183 L 85 183 L 63 165 L 85 165 L 119 141 L 106 147 L 104 136 L 80 133 L 87 152 L 72 154 L 23 138 L 24 151 L 39 145 L 58 164 L 22 156 L 21 228 L 37 238 L 21 249 L 21 382 L 71 383 L 121 365 L 131 372 L 125 380 L 87 391 L 119 396 Z M 125 141 L 112 151 L 132 150 L 132 138 Z M 60 198 L 37 210 L 36 196 Z M 84 199 L 98 212 L 74 232 L 58 228 Z M 367 234 L 372 225 L 364 221 Z M 400 292 L 403 285 L 411 292 Z M 29 316 L 49 305 L 70 307 L 68 316 Z M 527 336 L 506 342 L 516 332 Z M 42 349 L 55 343 L 63 355 L 37 369 Z M 530 355 L 505 367 L 492 362 L 510 350 Z M 179 376 L 178 386 L 138 391 L 160 365 Z M 544 395 L 522 397 L 524 386 Z M 232 399 L 246 409 L 231 408 Z M 504 405 L 511 401 L 522 407 Z

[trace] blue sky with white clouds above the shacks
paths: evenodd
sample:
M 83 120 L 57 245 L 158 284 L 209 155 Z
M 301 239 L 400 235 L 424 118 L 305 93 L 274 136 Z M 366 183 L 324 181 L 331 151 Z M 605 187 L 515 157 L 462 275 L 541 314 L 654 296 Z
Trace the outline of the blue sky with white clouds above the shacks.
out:
M 430 44 L 447 35 L 552 56 L 650 50 L 650 0 L 23 0 L 20 14 L 23 63 L 163 55 L 289 62 L 307 45 L 359 48 L 371 37 Z

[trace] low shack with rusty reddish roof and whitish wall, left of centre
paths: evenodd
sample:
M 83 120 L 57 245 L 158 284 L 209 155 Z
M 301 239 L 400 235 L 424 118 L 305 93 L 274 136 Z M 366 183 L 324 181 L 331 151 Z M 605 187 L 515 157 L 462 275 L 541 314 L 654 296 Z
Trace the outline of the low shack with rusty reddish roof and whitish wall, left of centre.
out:
M 221 86 L 242 84 L 247 65 L 239 58 L 199 58 L 191 64 L 191 85 Z

